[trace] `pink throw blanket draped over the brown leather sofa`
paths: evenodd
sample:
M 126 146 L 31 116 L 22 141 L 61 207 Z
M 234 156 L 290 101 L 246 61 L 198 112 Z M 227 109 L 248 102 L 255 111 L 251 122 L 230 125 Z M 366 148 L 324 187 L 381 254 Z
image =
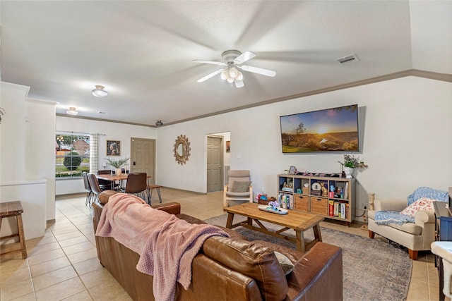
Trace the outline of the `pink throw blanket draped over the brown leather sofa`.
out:
M 207 238 L 229 237 L 218 227 L 188 223 L 122 193 L 109 197 L 96 235 L 112 237 L 140 254 L 136 269 L 153 275 L 156 300 L 174 300 L 176 281 L 189 288 L 191 262 Z

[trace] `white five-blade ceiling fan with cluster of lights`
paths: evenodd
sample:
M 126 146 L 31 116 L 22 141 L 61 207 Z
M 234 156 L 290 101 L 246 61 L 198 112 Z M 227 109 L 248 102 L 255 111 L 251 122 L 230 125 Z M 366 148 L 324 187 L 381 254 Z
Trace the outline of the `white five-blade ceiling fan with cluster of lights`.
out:
M 263 69 L 263 68 L 257 68 L 253 66 L 248 65 L 242 65 L 246 61 L 249 61 L 250 59 L 253 59 L 256 54 L 251 51 L 245 51 L 243 54 L 242 52 L 238 50 L 227 50 L 221 54 L 222 59 L 224 62 L 220 61 L 203 61 L 203 60 L 193 60 L 194 63 L 210 63 L 213 65 L 219 65 L 219 66 L 226 66 L 225 68 L 220 68 L 218 70 L 213 71 L 213 73 L 210 73 L 203 78 L 200 78 L 197 80 L 197 82 L 204 82 L 208 80 L 209 78 L 213 78 L 215 75 L 220 74 L 222 80 L 227 80 L 232 85 L 232 82 L 234 82 L 235 87 L 243 87 L 243 74 L 238 69 L 242 69 L 244 71 L 252 72 L 252 73 L 258 73 L 261 75 L 266 75 L 270 77 L 275 77 L 276 72 L 273 70 Z

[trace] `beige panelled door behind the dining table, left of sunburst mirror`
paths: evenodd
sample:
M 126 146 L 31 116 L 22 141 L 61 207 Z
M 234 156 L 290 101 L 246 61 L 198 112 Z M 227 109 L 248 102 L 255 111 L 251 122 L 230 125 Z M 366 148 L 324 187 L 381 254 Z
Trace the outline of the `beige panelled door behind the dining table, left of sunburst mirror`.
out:
M 155 140 L 131 138 L 131 173 L 147 173 L 155 184 Z

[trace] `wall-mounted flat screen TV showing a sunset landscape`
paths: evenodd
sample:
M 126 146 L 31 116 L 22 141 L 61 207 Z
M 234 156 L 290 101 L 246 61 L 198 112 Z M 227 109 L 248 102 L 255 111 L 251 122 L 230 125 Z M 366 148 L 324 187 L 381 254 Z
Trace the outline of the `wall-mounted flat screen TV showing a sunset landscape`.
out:
M 358 105 L 280 116 L 283 153 L 359 152 Z

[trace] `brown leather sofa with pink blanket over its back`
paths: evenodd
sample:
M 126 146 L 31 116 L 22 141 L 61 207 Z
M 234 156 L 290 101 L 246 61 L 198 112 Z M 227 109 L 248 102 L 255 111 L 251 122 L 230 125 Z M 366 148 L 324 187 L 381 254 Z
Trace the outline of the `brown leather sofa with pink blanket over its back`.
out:
M 100 202 L 93 204 L 95 231 L 103 205 L 112 193 L 102 192 Z M 153 207 L 190 223 L 203 223 L 180 214 L 179 203 Z M 340 247 L 318 242 L 309 252 L 302 253 L 271 242 L 249 241 L 235 231 L 226 231 L 230 238 L 213 236 L 204 242 L 192 263 L 190 288 L 184 290 L 177 283 L 176 300 L 343 300 Z M 96 236 L 96 245 L 100 264 L 133 300 L 155 300 L 153 276 L 136 270 L 139 259 L 136 252 L 114 238 Z M 287 276 L 273 251 L 285 254 L 295 264 L 295 269 Z

